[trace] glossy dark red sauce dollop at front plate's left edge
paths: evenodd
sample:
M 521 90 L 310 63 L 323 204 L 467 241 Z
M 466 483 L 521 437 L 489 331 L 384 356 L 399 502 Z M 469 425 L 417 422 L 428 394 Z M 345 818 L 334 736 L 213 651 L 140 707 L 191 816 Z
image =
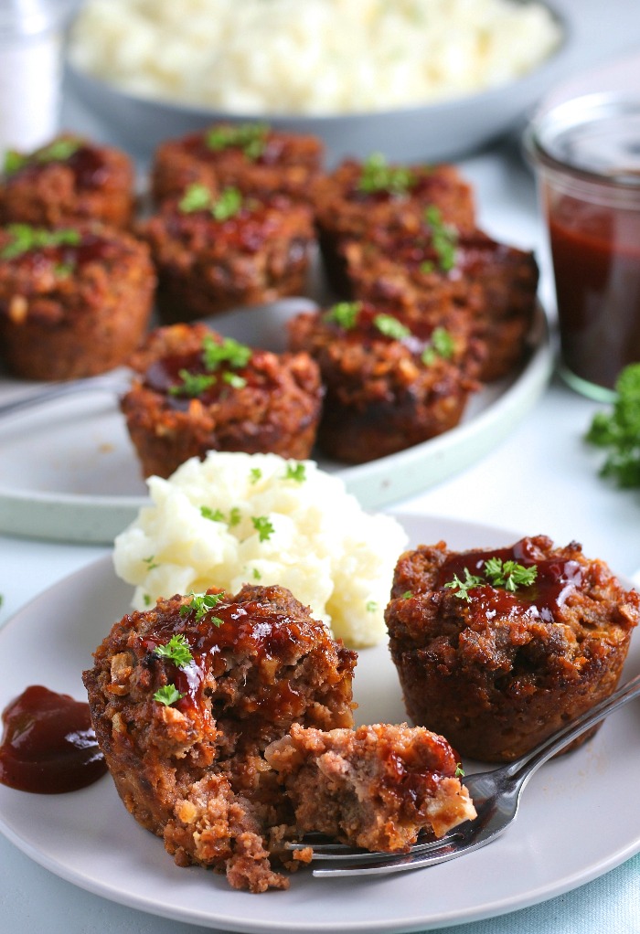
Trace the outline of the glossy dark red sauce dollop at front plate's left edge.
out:
M 7 705 L 2 719 L 3 785 L 59 795 L 92 785 L 106 773 L 89 704 L 32 685 Z

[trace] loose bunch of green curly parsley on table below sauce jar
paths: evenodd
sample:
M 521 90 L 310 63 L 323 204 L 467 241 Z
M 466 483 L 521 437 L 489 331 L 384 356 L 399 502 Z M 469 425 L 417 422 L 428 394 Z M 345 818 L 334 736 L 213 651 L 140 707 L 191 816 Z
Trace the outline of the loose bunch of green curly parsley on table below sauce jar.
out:
M 608 449 L 601 476 L 621 488 L 640 487 L 640 363 L 622 370 L 612 411 L 596 412 L 586 440 Z

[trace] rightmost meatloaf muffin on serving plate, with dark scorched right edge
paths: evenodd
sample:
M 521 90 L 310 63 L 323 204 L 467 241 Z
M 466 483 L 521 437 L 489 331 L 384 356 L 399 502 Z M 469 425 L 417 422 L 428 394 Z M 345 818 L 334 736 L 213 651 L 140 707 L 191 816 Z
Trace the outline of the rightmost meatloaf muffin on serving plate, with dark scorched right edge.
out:
M 497 243 L 480 231 L 457 232 L 425 218 L 406 235 L 371 231 L 340 248 L 349 283 L 347 297 L 430 313 L 452 302 L 467 309 L 487 347 L 479 378 L 509 375 L 526 352 L 535 312 L 538 267 L 533 253 Z M 439 239 L 440 238 L 440 239 Z

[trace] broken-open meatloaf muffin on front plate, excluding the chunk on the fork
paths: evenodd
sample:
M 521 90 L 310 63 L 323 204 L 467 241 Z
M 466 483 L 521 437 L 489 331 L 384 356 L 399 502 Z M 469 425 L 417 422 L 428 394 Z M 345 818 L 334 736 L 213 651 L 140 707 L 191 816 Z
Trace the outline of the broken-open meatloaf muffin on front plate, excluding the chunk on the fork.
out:
M 284 888 L 269 839 L 292 811 L 263 752 L 293 723 L 352 725 L 356 656 L 282 587 L 207 594 L 113 626 L 83 674 L 93 728 L 125 807 L 179 866 Z

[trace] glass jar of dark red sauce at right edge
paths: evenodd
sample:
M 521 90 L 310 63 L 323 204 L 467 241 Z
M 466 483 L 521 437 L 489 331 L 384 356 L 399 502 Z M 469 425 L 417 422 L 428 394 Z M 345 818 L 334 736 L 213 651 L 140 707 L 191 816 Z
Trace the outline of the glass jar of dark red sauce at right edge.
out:
M 608 401 L 640 361 L 640 96 L 566 101 L 533 120 L 524 144 L 548 225 L 561 375 Z

